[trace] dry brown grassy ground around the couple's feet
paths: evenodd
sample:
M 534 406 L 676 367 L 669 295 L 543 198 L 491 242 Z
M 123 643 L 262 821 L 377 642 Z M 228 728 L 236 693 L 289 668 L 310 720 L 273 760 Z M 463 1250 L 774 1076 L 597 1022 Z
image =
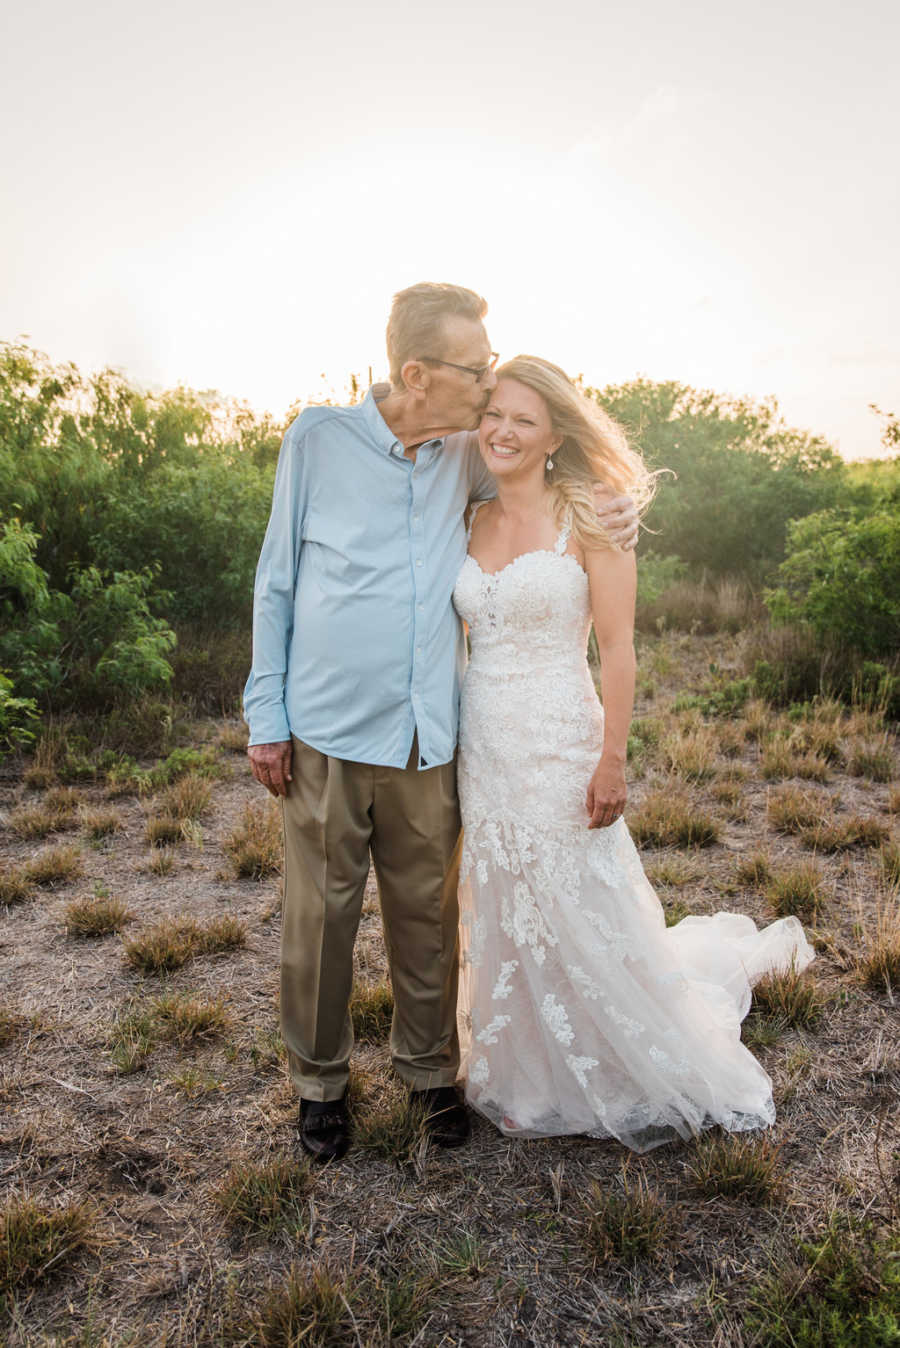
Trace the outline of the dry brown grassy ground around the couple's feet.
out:
M 877 710 L 676 702 L 740 636 L 643 638 L 628 820 L 671 921 L 796 913 L 744 1035 L 765 1136 L 428 1148 L 371 884 L 356 1142 L 309 1170 L 278 1034 L 279 821 L 237 723 L 140 770 L 0 768 L 0 1344 L 900 1343 L 900 791 Z M 151 771 L 154 770 L 155 771 Z

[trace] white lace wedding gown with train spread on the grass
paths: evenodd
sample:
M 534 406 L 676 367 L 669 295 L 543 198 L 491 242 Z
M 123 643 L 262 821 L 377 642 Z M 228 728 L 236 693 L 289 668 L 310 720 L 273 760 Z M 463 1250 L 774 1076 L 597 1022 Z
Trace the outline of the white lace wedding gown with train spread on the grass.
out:
M 587 829 L 604 713 L 587 669 L 587 576 L 555 549 L 494 574 L 465 559 L 459 1031 L 466 1099 L 513 1136 L 590 1134 L 645 1151 L 775 1120 L 741 1043 L 760 975 L 812 949 L 796 918 L 667 929 L 624 820 Z

